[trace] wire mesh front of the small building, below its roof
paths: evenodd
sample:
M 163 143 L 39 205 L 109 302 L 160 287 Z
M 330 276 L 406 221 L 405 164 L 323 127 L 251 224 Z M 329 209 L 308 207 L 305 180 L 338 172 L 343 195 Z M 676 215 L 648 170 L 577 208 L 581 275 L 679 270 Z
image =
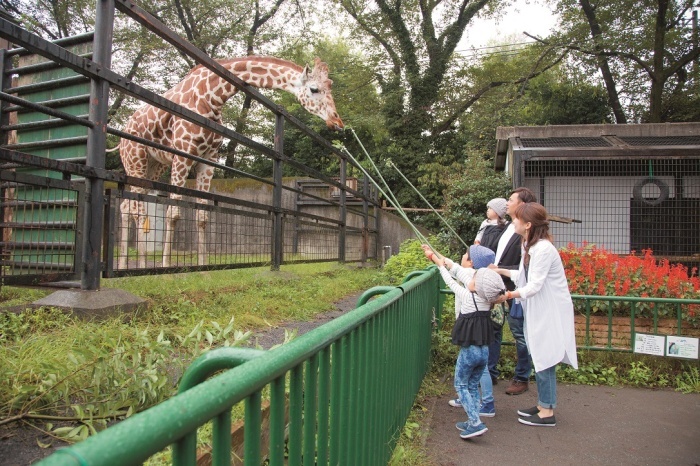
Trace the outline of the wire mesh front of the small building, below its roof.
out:
M 550 224 L 559 246 L 651 249 L 700 265 L 700 158 L 527 160 L 524 175 L 547 211 L 565 220 Z

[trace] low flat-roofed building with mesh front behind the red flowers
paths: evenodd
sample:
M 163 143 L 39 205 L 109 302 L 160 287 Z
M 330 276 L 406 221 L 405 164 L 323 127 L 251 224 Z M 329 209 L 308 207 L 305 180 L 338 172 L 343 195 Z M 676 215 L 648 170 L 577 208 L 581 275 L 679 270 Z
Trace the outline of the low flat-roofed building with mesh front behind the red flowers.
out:
M 496 170 L 537 194 L 557 246 L 700 265 L 700 123 L 499 127 Z

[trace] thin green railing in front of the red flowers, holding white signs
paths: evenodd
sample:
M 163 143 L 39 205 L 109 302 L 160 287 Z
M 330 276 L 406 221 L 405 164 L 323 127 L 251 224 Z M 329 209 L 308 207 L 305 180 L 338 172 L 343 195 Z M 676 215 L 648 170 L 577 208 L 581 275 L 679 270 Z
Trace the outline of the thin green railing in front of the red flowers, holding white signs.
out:
M 591 295 L 572 295 L 576 313 L 585 316 L 585 333 L 583 337 L 583 345 L 578 345 L 579 349 L 603 350 L 603 351 L 620 351 L 632 352 L 635 335 L 637 333 L 637 322 L 641 318 L 652 319 L 652 326 L 649 333 L 659 334 L 659 321 L 663 319 L 675 319 L 675 335 L 683 335 L 684 328 L 684 308 L 685 315 L 688 312 L 695 312 L 698 317 L 698 311 L 688 309 L 688 306 L 700 305 L 700 299 L 672 299 L 672 298 L 641 298 L 634 296 L 591 296 Z M 604 310 L 600 308 L 604 307 Z M 594 308 L 597 309 L 594 313 Z M 644 308 L 644 309 L 642 309 Z M 623 309 L 622 311 L 620 309 Z M 625 318 L 629 318 L 629 345 L 626 347 L 614 347 L 613 345 L 613 317 L 614 315 L 624 314 Z M 604 346 L 591 345 L 593 335 L 591 332 L 591 317 L 600 315 L 607 317 L 607 342 Z M 643 316 L 643 317 L 642 317 Z M 694 328 L 699 328 L 700 324 L 695 324 Z M 644 332 L 646 333 L 646 332 Z

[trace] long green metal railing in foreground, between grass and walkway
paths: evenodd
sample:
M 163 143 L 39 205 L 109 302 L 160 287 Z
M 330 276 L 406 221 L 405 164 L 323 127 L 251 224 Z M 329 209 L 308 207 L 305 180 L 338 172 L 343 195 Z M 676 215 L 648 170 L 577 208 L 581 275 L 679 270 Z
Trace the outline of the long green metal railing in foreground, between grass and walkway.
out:
M 211 351 L 178 395 L 39 464 L 141 464 L 169 445 L 173 464 L 195 464 L 197 429 L 211 420 L 212 464 L 230 465 L 231 410 L 244 402 L 243 461 L 259 466 L 264 391 L 270 465 L 386 465 L 428 369 L 439 289 L 428 268 L 276 349 Z

